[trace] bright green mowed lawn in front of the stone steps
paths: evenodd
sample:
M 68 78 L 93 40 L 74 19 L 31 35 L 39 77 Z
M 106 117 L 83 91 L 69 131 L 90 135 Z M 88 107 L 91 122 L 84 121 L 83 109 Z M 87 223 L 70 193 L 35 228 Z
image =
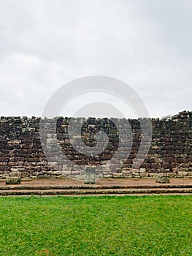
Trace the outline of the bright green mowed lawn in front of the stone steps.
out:
M 0 255 L 192 255 L 192 196 L 0 197 Z

